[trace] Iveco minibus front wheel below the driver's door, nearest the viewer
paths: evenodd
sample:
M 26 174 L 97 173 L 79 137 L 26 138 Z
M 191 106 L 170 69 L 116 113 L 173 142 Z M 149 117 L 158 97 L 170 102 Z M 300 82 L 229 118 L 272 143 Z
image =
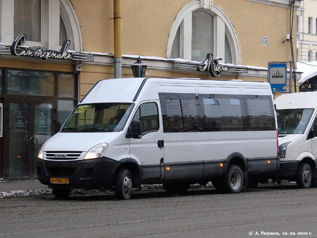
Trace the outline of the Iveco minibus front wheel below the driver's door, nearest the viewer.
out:
M 132 175 L 129 169 L 120 169 L 114 178 L 114 194 L 121 200 L 129 200 L 132 194 Z

